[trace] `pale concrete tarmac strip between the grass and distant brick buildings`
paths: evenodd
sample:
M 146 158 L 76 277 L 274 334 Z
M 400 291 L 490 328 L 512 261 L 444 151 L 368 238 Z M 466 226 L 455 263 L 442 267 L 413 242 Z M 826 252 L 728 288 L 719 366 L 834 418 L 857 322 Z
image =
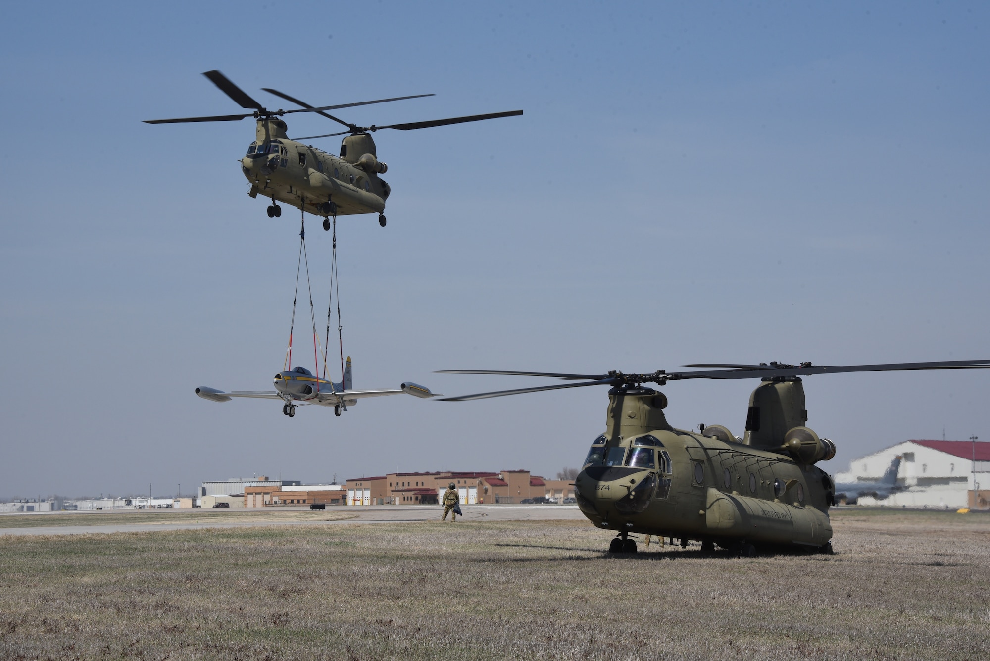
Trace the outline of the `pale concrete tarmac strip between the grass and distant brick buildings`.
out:
M 460 507 L 464 513 L 458 519 L 465 520 L 553 520 L 553 519 L 574 519 L 584 520 L 584 515 L 577 509 L 576 505 L 462 505 Z M 237 508 L 232 513 L 241 512 L 266 512 L 277 516 L 280 512 L 309 512 L 308 508 L 279 508 L 273 512 L 270 508 Z M 120 514 L 135 512 L 134 510 L 117 511 Z M 166 510 L 173 514 L 181 511 Z M 190 510 L 189 517 L 192 519 L 201 510 Z M 403 506 L 403 505 L 378 505 L 378 506 L 352 506 L 328 509 L 328 513 L 347 514 L 354 516 L 353 519 L 339 520 L 272 520 L 265 519 L 257 522 L 193 522 L 177 523 L 101 523 L 86 525 L 83 521 L 88 513 L 52 513 L 52 514 L 74 514 L 80 519 L 79 525 L 40 525 L 32 527 L 0 527 L 2 535 L 47 535 L 47 534 L 94 534 L 94 533 L 114 533 L 114 532 L 152 532 L 157 530 L 197 530 L 201 528 L 217 527 L 256 527 L 259 525 L 340 525 L 342 523 L 403 523 L 409 521 L 440 520 L 443 509 L 440 506 Z M 101 514 L 117 514 L 112 511 Z M 37 516 L 45 517 L 47 513 L 36 515 L 16 515 L 16 516 Z

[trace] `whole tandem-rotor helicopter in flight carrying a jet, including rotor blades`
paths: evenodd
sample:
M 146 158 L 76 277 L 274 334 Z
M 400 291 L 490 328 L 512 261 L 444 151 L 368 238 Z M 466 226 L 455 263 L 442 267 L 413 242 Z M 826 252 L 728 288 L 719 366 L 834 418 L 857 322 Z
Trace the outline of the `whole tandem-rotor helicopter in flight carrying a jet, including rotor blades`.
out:
M 146 120 L 146 124 L 239 122 L 253 117 L 257 120 L 254 142 L 251 142 L 247 147 L 247 155 L 241 158 L 241 169 L 251 183 L 248 195 L 251 197 L 260 195 L 271 199 L 271 205 L 268 207 L 268 218 L 281 216 L 282 208 L 278 206 L 278 203 L 284 202 L 303 212 L 323 216 L 323 229 L 328 231 L 330 230 L 330 216 L 350 214 L 378 214 L 378 224 L 385 227 L 385 200 L 388 199 L 391 188 L 378 175 L 384 174 L 388 166 L 378 160 L 378 152 L 370 134 L 382 129 L 412 131 L 523 114 L 521 110 L 513 110 L 505 113 L 451 117 L 446 120 L 390 124 L 382 127 L 374 125 L 360 127 L 338 119 L 326 111 L 435 95 L 415 94 L 413 96 L 314 108 L 288 94 L 265 87 L 263 88 L 264 91 L 297 106 L 302 106 L 295 110 L 268 110 L 248 96 L 244 90 L 231 82 L 220 71 L 206 71 L 203 75 L 209 78 L 227 96 L 234 99 L 238 105 L 249 109 L 251 112 L 241 115 Z M 347 127 L 347 131 L 290 139 L 286 135 L 288 127 L 279 118 L 291 113 L 317 113 Z M 347 135 L 347 138 L 341 143 L 340 157 L 300 142 L 344 135 Z

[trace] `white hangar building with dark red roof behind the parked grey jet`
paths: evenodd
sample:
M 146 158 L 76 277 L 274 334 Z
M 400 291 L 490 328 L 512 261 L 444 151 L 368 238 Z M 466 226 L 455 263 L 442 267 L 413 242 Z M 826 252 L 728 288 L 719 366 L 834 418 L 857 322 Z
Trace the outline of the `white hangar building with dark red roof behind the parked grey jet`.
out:
M 905 440 L 853 459 L 836 482 L 878 482 L 891 462 L 902 457 L 897 484 L 904 489 L 884 500 L 868 496 L 860 505 L 958 509 L 990 506 L 990 442 L 969 440 Z M 975 482 L 975 484 L 974 484 Z M 974 490 L 976 502 L 973 502 Z

